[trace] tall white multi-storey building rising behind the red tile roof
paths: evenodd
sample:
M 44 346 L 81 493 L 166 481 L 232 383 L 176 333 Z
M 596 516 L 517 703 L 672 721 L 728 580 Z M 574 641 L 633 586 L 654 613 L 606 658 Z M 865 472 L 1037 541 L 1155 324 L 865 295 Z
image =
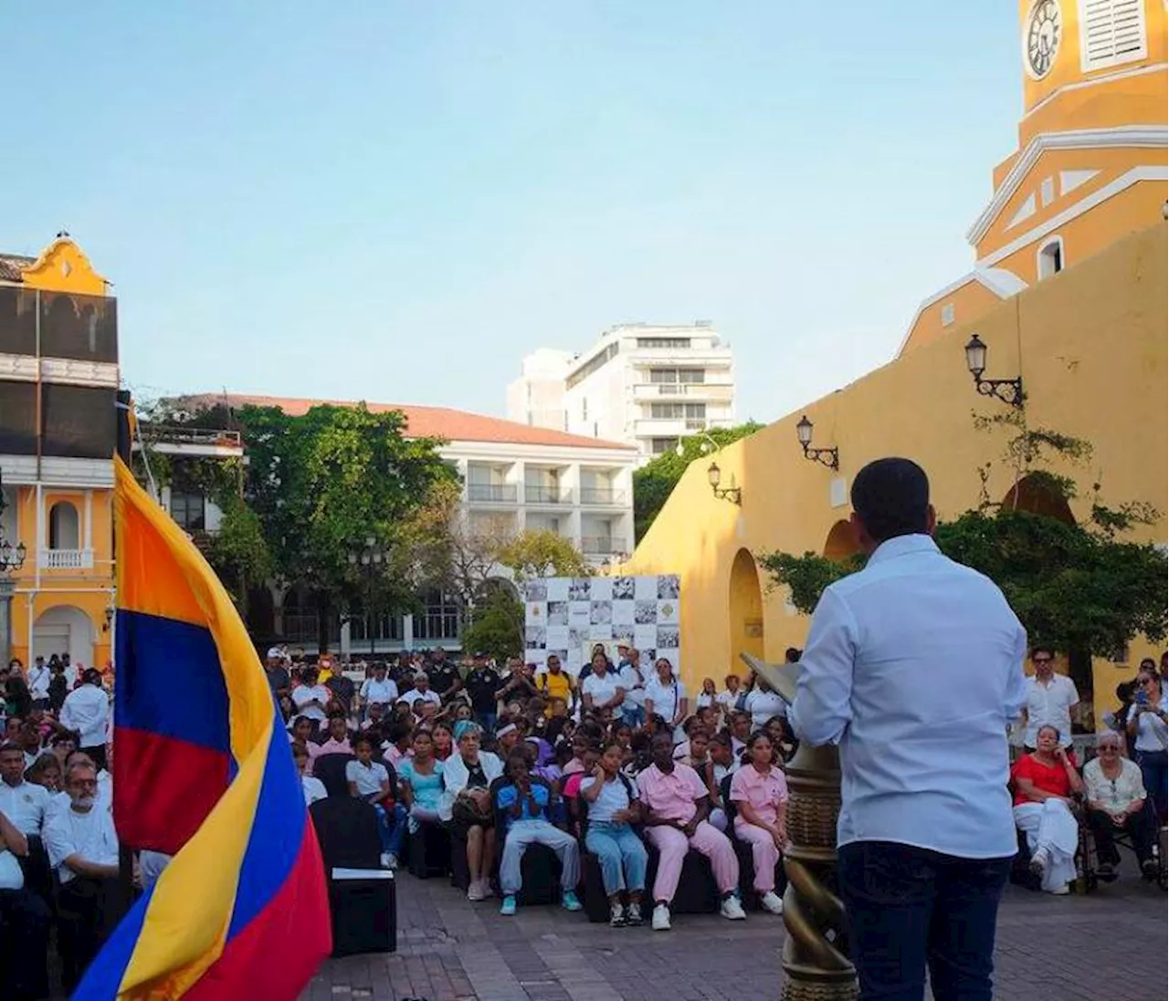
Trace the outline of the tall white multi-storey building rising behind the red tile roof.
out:
M 734 360 L 708 322 L 623 324 L 579 355 L 540 348 L 525 357 L 507 416 L 624 442 L 645 463 L 687 435 L 734 424 Z

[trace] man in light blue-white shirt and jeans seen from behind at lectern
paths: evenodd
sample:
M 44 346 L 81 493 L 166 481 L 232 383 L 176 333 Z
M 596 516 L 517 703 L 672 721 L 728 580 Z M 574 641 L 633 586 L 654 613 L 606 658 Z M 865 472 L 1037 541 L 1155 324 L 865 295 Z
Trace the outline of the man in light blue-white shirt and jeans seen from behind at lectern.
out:
M 1007 728 L 1026 633 L 992 582 L 941 554 L 929 481 L 880 459 L 852 484 L 869 564 L 812 618 L 796 736 L 841 749 L 838 882 L 860 997 L 990 1001 L 998 901 L 1017 851 Z

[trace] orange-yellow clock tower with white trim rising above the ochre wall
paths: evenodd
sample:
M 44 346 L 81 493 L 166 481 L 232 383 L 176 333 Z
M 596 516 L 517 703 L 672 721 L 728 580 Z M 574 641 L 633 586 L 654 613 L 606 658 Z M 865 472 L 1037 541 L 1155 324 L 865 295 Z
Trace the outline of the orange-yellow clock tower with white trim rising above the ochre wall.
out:
M 1161 221 L 1167 0 L 1021 0 L 1018 152 L 970 230 L 978 265 L 1032 284 Z

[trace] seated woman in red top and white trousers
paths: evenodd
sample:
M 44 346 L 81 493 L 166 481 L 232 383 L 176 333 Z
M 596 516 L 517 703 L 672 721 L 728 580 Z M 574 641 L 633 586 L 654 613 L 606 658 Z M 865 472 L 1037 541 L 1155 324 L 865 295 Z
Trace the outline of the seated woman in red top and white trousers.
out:
M 1026 834 L 1031 871 L 1049 894 L 1068 892 L 1075 878 L 1079 823 L 1072 795 L 1084 792 L 1084 780 L 1060 744 L 1059 730 L 1044 724 L 1036 749 L 1015 763 L 1015 826 Z

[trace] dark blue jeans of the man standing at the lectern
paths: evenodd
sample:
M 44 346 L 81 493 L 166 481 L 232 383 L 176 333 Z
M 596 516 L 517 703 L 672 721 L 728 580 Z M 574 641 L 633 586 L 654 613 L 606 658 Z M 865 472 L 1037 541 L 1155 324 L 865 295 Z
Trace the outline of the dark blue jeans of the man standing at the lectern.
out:
M 995 922 L 1010 859 L 956 859 L 888 841 L 838 850 L 860 1001 L 990 1001 Z

